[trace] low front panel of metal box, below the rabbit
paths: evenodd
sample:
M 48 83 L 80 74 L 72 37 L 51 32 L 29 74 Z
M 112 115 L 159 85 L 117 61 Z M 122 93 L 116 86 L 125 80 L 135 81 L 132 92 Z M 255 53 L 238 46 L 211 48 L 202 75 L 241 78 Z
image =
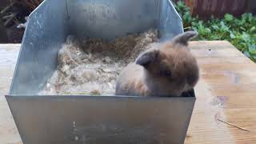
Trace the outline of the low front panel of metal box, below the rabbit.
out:
M 6 96 L 24 144 L 182 144 L 194 97 Z

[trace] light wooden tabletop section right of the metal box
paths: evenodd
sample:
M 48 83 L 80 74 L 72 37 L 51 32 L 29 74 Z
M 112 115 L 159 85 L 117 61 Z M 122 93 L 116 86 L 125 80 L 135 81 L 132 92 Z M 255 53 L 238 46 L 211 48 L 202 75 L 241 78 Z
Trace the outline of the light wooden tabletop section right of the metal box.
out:
M 256 143 L 256 65 L 227 42 L 190 44 L 201 80 L 185 143 Z

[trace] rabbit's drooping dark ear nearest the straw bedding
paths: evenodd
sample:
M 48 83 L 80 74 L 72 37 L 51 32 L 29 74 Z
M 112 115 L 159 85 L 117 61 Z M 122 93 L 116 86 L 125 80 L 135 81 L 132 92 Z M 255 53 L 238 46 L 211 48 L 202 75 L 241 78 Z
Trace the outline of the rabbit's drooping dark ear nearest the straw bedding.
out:
M 158 53 L 158 50 L 147 50 L 138 56 L 135 63 L 146 68 L 150 63 L 156 60 Z

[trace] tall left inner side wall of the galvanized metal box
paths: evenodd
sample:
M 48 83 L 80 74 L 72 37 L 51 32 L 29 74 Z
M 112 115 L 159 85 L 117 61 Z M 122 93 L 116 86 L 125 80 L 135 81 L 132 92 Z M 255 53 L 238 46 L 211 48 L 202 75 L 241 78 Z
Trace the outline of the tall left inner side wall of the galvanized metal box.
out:
M 66 2 L 45 0 L 29 16 L 10 94 L 36 94 L 56 69 L 68 32 Z

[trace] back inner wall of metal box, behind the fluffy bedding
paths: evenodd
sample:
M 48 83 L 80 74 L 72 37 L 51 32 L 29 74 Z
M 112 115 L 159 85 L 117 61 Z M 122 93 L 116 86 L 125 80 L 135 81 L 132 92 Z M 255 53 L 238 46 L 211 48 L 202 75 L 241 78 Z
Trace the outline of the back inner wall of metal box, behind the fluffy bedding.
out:
M 70 32 L 79 38 L 114 39 L 158 24 L 160 0 L 67 0 Z

